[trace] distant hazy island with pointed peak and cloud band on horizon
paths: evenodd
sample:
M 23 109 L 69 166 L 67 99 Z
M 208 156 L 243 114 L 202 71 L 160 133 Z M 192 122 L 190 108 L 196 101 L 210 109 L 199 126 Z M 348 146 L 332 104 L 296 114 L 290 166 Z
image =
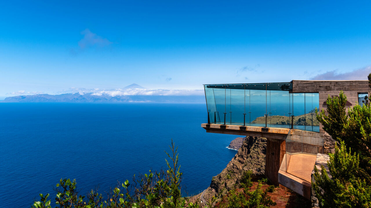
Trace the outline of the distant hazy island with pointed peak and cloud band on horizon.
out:
M 2 103 L 204 103 L 201 90 L 152 90 L 138 84 L 122 89 L 59 95 L 36 94 L 7 97 Z M 202 91 L 203 92 L 203 91 Z

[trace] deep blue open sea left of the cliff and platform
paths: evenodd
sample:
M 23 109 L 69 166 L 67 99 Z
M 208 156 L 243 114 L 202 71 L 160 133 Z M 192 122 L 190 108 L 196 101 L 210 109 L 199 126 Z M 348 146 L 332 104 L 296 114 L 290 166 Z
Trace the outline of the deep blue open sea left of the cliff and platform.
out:
M 39 193 L 53 199 L 65 177 L 81 194 L 104 193 L 166 168 L 171 139 L 182 184 L 198 194 L 237 152 L 226 148 L 236 136 L 206 133 L 201 123 L 206 104 L 0 103 L 1 207 L 28 208 Z

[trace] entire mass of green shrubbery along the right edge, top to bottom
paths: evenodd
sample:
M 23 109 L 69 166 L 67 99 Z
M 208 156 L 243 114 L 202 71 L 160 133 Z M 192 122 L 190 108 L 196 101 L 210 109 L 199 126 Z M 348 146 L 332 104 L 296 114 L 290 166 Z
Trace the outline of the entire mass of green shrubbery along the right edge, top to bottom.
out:
M 328 97 L 326 111 L 316 109 L 323 129 L 341 144 L 329 154 L 332 178 L 324 167 L 321 174 L 315 167 L 312 187 L 320 207 L 371 207 L 371 105 L 355 105 L 346 113 L 346 102 L 341 91 L 339 97 Z

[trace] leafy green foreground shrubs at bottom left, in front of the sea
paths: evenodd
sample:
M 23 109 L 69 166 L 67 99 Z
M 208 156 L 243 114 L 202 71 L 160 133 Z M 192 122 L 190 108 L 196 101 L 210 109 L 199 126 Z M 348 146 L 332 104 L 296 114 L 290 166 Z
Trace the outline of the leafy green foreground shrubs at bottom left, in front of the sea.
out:
M 199 208 L 199 201 L 190 202 L 188 197 L 181 196 L 180 165 L 177 149 L 171 141 L 171 154 L 167 154 L 167 171 L 149 171 L 149 174 L 133 177 L 119 187 L 111 188 L 106 197 L 98 190 L 90 191 L 86 196 L 79 195 L 76 181 L 61 179 L 56 185 L 56 208 Z M 51 208 L 49 194 L 40 194 L 40 201 L 34 202 L 32 208 Z

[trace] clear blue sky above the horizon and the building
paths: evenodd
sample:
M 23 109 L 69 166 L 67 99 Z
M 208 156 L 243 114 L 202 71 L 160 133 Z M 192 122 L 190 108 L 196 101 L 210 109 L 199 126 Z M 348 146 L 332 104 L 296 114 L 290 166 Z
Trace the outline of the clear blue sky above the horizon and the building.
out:
M 0 100 L 366 79 L 370 11 L 370 1 L 1 1 Z

